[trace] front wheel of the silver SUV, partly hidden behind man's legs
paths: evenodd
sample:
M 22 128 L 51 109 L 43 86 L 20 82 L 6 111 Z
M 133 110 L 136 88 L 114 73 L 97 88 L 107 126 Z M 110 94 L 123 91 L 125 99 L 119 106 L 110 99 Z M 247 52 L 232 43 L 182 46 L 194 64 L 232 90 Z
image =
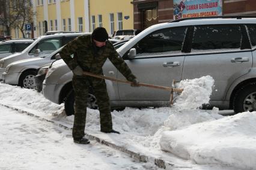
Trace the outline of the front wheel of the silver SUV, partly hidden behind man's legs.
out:
M 75 104 L 75 93 L 74 93 L 74 90 L 71 90 L 67 94 L 67 98 L 64 102 L 64 108 L 67 116 L 72 116 L 73 114 L 75 114 L 74 104 Z M 96 97 L 93 95 L 92 90 L 90 90 L 90 92 L 88 93 L 87 107 L 91 109 L 98 109 L 97 100 L 96 100 Z

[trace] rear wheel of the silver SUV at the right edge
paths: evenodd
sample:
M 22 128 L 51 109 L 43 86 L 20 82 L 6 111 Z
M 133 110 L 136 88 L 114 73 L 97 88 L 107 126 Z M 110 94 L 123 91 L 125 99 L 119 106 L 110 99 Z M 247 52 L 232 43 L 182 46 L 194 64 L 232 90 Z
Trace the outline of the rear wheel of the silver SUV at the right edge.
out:
M 249 83 L 237 90 L 233 109 L 235 113 L 244 111 L 256 111 L 256 83 Z

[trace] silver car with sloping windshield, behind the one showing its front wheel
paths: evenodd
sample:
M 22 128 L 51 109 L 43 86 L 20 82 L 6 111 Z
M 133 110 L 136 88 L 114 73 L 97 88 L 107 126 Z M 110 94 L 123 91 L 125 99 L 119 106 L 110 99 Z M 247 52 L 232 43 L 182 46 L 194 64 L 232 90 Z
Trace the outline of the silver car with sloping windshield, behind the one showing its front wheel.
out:
M 2 73 L 5 71 L 5 68 L 10 63 L 22 59 L 46 57 L 58 48 L 62 47 L 63 45 L 66 45 L 67 42 L 73 40 L 79 35 L 85 34 L 90 33 L 54 34 L 44 35 L 38 38 L 21 53 L 12 54 L 0 60 L 0 79 L 2 79 Z

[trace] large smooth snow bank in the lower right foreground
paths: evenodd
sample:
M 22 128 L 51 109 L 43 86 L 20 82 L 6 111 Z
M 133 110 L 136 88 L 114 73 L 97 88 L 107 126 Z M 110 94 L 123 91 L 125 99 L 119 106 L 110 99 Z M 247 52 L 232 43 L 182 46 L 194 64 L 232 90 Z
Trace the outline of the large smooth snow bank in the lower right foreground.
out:
M 198 164 L 216 163 L 254 169 L 256 112 L 165 131 L 160 139 L 160 147 Z

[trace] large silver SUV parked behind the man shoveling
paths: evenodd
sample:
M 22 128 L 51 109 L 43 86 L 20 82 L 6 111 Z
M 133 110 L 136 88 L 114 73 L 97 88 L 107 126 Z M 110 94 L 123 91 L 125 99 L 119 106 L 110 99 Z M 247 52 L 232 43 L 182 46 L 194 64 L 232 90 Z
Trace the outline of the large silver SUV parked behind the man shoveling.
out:
M 139 81 L 170 86 L 172 80 L 211 75 L 215 84 L 210 107 L 236 113 L 256 110 L 256 17 L 218 16 L 160 23 L 145 29 L 117 49 Z M 109 60 L 109 77 L 125 79 Z M 72 72 L 62 60 L 53 63 L 43 95 L 73 111 Z M 111 107 L 157 107 L 169 93 L 106 80 Z M 93 95 L 93 92 L 90 92 Z

